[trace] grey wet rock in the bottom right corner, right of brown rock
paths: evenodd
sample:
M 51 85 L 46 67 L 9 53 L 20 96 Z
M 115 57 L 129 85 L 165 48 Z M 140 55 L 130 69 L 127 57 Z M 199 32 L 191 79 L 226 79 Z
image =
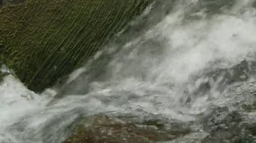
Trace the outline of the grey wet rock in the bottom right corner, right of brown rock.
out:
M 203 115 L 203 130 L 209 133 L 202 142 L 256 142 L 255 86 L 242 83 L 233 86 L 234 102 L 216 107 Z M 232 93 L 232 92 L 231 92 Z

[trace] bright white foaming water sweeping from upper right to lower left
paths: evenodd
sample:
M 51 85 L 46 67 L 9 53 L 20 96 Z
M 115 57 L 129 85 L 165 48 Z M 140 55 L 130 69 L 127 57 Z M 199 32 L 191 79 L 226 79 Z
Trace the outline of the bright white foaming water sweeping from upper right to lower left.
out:
M 104 81 L 78 80 L 78 89 L 88 86 L 86 95 L 66 95 L 48 104 L 55 91 L 38 95 L 6 77 L 0 86 L 0 142 L 60 142 L 80 115 L 152 113 L 190 121 L 212 105 L 228 105 L 230 97 L 214 89 L 193 97 L 189 105 L 182 99 L 187 97 L 185 91 L 190 93 L 203 82 L 193 81 L 195 75 L 230 68 L 255 56 L 256 9 L 251 3 L 238 1 L 230 11 L 210 18 L 199 11 L 194 14 L 200 18 L 189 21 L 185 20 L 187 5 L 177 4 L 154 28 L 113 55 L 104 69 Z

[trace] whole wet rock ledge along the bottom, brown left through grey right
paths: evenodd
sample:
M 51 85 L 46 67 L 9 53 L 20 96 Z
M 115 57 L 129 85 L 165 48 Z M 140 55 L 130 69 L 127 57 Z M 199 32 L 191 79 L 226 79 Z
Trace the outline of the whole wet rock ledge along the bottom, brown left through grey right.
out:
M 255 81 L 230 85 L 222 96 L 232 102 L 213 105 L 191 122 L 129 115 L 85 117 L 65 143 L 71 142 L 256 142 Z M 151 120 L 153 119 L 153 120 Z

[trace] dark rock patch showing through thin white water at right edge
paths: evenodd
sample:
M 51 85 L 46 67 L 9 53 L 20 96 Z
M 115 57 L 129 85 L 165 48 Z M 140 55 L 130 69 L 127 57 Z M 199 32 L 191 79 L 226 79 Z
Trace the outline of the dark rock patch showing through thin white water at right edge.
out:
M 223 93 L 231 85 L 242 83 L 253 79 L 256 76 L 256 62 L 243 60 L 230 68 L 216 68 L 206 73 L 196 75 L 191 78 L 188 85 L 195 86 L 193 91 L 185 89 L 187 98 L 183 102 L 190 103 L 193 97 L 211 94 L 212 90 L 220 91 Z

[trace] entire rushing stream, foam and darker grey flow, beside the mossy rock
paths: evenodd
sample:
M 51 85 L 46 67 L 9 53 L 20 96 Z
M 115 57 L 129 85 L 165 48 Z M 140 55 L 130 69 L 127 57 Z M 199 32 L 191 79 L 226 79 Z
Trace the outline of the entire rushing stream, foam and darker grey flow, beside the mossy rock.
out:
M 212 142 L 244 134 L 242 127 L 214 131 L 214 123 L 233 122 L 225 118 L 230 113 L 256 128 L 255 110 L 243 109 L 256 103 L 255 1 L 223 1 L 151 5 L 133 23 L 148 18 L 145 28 L 128 32 L 125 44 L 109 44 L 67 83 L 40 95 L 5 77 L 0 142 L 61 142 L 82 116 L 98 113 L 193 122 Z M 256 133 L 248 134 L 253 142 Z

